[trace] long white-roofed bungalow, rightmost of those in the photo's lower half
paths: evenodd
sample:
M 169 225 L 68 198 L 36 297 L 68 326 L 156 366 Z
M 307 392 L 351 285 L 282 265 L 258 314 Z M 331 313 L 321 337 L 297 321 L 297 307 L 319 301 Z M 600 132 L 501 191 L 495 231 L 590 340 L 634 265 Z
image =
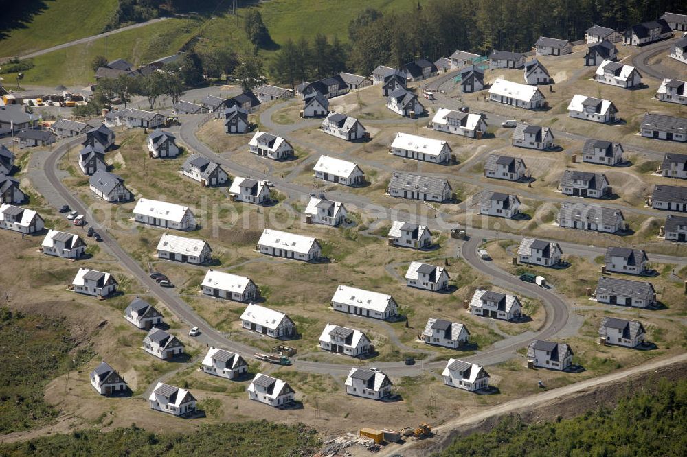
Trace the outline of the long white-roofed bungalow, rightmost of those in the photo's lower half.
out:
M 382 320 L 396 316 L 398 312 L 398 305 L 391 295 L 348 285 L 339 285 L 332 296 L 332 307 L 335 311 Z

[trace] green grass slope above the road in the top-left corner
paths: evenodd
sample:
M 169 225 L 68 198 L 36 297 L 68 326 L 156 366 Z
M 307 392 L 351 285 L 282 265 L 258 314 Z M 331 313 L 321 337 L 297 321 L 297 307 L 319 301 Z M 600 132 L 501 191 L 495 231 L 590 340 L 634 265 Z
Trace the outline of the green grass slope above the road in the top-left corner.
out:
M 45 3 L 45 9 L 36 14 L 25 28 L 3 31 L 0 37 L 8 36 L 0 39 L 0 56 L 27 54 L 99 34 L 118 2 L 54 0 L 41 3 Z

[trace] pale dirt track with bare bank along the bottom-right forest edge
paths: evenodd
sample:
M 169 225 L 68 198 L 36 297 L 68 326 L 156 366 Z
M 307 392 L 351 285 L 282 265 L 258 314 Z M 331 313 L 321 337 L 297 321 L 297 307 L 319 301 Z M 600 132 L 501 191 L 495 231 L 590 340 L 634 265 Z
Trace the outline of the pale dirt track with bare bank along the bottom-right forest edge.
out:
M 460 436 L 488 432 L 495 427 L 501 417 L 508 414 L 518 414 L 523 421 L 528 423 L 553 421 L 559 417 L 570 419 L 601 405 L 611 406 L 618 399 L 636 391 L 638 386 L 651 389 L 651 384 L 661 377 L 677 380 L 684 379 L 686 376 L 687 353 L 672 358 L 653 360 L 629 370 L 587 379 L 548 390 L 539 395 L 508 401 L 477 414 L 457 417 L 437 427 L 434 430 L 437 435 L 429 440 L 411 442 L 402 447 L 390 445 L 382 449 L 378 455 L 426 456 L 442 451 Z

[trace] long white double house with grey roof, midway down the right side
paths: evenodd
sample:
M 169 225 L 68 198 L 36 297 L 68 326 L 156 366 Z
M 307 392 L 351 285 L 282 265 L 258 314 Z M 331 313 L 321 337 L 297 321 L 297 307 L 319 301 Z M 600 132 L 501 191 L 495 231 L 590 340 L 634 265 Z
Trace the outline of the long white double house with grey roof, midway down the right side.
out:
M 620 209 L 598 204 L 564 202 L 558 219 L 559 226 L 568 229 L 616 233 L 625 227 L 625 218 Z

